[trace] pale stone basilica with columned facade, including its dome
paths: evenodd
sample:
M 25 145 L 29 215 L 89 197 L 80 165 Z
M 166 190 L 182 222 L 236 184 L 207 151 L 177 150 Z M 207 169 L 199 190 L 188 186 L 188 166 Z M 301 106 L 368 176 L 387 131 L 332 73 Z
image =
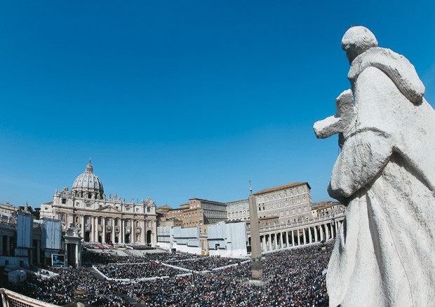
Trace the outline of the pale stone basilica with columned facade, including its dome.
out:
M 41 205 L 41 217 L 59 219 L 64 230 L 73 226 L 85 242 L 156 244 L 155 201 L 128 202 L 116 193 L 107 197 L 91 160 L 71 190 L 56 190 L 53 201 Z

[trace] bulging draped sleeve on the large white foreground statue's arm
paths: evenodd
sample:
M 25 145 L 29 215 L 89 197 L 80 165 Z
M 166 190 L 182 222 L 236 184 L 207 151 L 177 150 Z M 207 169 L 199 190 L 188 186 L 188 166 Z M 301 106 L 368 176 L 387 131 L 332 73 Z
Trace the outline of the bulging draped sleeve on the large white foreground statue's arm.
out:
M 366 130 L 347 137 L 333 168 L 329 195 L 347 203 L 347 198 L 382 172 L 391 153 L 389 137 L 382 132 Z

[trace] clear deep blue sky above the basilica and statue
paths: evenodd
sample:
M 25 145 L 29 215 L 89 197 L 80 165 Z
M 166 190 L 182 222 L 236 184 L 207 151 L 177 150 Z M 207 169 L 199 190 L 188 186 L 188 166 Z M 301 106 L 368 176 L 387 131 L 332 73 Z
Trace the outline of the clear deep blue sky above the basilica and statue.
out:
M 435 103 L 434 1 L 1 1 L 0 203 L 52 200 L 92 158 L 107 195 L 177 207 L 288 182 L 326 191 L 351 25 Z

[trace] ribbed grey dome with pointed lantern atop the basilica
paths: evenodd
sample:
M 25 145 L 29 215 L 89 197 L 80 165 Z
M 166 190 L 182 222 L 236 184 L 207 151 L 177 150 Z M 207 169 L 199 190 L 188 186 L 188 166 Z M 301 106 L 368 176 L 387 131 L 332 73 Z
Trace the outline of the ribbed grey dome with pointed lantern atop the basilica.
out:
M 72 184 L 72 191 L 76 197 L 101 199 L 105 193 L 100 178 L 93 173 L 91 159 L 86 165 L 86 171 L 80 174 Z

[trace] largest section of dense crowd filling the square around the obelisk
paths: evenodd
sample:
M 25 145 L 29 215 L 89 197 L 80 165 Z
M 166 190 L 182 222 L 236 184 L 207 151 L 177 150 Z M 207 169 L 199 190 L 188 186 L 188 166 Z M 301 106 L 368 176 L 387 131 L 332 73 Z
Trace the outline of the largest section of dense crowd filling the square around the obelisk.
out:
M 129 257 L 114 254 L 104 254 L 105 259 L 99 259 L 100 263 L 109 264 L 103 268 L 107 269 L 106 275 L 129 275 L 129 282 L 97 280 L 86 268 L 58 268 L 53 269 L 60 274 L 58 277 L 51 280 L 31 278 L 27 285 L 15 291 L 25 291 L 23 294 L 27 296 L 58 305 L 74 301 L 73 291 L 81 287 L 88 291 L 89 303 L 93 306 L 129 306 L 128 298 L 147 306 L 328 306 L 324 270 L 328 266 L 330 250 L 328 244 L 326 250 L 310 246 L 266 254 L 262 260 L 265 287 L 246 282 L 250 276 L 250 261 L 240 263 L 240 259 L 156 253 L 139 258 L 146 264 L 131 265 Z M 181 261 L 186 259 L 189 260 Z M 119 264 L 126 260 L 130 263 L 129 268 Z M 189 268 L 200 271 L 195 268 L 226 266 L 232 261 L 239 262 L 210 273 L 135 280 L 145 277 L 147 271 L 163 267 L 162 263 L 189 264 Z M 123 275 L 123 271 L 129 273 Z

